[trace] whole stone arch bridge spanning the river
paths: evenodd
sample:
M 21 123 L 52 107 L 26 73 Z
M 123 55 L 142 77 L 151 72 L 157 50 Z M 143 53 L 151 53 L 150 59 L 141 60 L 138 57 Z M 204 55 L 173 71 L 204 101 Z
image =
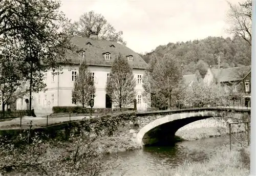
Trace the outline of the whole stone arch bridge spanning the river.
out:
M 236 117 L 240 119 L 244 113 L 250 115 L 250 109 L 201 107 L 137 113 L 137 125 L 130 123 L 119 132 L 121 132 L 121 136 L 130 136 L 142 146 L 148 144 L 148 136 L 159 138 L 162 141 L 161 143 L 168 143 L 174 139 L 175 133 L 179 128 L 189 123 L 211 117 Z

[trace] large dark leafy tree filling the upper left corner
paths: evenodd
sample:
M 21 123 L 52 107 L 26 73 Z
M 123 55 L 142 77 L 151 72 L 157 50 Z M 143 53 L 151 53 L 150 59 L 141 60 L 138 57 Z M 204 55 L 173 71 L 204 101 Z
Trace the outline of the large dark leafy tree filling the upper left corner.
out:
M 30 81 L 31 109 L 31 92 L 46 86 L 41 72 L 59 69 L 60 62 L 69 61 L 67 51 L 74 49 L 72 36 L 60 30 L 68 19 L 59 12 L 59 1 L 6 0 L 0 7 L 0 53 L 10 53 Z

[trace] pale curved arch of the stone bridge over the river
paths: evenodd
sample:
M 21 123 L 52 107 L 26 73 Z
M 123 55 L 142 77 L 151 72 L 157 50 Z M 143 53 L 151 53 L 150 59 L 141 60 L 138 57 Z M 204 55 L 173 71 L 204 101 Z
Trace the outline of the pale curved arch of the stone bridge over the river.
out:
M 193 112 L 193 113 L 179 113 L 179 114 L 172 114 L 172 115 L 167 115 L 163 118 L 157 119 L 147 125 L 145 125 L 144 127 L 142 127 L 139 131 L 139 133 L 137 134 L 137 142 L 139 145 L 144 145 L 143 143 L 143 137 L 145 136 L 145 134 L 160 126 L 160 125 L 165 125 L 168 123 L 173 123 L 172 125 L 172 132 L 173 135 L 176 133 L 176 131 L 195 121 L 198 120 L 202 120 L 202 119 L 207 119 L 207 118 L 211 118 L 211 117 L 218 117 L 219 114 L 214 112 L 214 111 L 203 111 L 203 112 Z

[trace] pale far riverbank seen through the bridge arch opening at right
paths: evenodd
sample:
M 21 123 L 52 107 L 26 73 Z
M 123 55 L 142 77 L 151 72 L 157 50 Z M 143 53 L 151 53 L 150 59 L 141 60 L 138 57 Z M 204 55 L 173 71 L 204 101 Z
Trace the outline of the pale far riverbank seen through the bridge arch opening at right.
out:
M 225 136 L 229 134 L 228 121 L 222 118 L 209 118 L 189 123 L 176 132 L 176 136 L 184 140 L 198 140 L 211 137 Z M 243 124 L 233 124 L 231 128 L 232 133 L 242 133 L 245 131 Z

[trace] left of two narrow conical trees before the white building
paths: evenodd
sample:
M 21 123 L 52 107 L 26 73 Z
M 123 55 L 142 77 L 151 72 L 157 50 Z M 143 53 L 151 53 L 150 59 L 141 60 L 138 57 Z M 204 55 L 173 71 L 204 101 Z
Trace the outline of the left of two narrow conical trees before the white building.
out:
M 72 97 L 74 101 L 82 104 L 82 107 L 84 107 L 89 105 L 91 95 L 94 94 L 94 80 L 92 80 L 92 75 L 86 61 L 83 61 L 79 67 L 79 74 L 75 79 Z

